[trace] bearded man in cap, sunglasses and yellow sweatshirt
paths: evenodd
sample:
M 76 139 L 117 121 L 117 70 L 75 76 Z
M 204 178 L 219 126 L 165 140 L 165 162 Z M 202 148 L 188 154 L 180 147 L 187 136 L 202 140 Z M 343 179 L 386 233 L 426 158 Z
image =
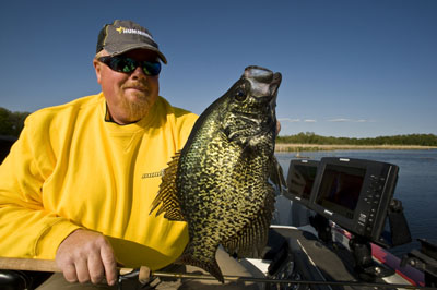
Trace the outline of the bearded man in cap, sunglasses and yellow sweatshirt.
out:
M 158 96 L 160 61 L 147 29 L 115 21 L 93 60 L 102 93 L 27 118 L 0 167 L 0 256 L 56 259 L 93 288 L 115 286 L 117 264 L 160 269 L 180 255 L 186 223 L 149 209 L 197 116 Z M 50 279 L 42 289 L 64 282 Z

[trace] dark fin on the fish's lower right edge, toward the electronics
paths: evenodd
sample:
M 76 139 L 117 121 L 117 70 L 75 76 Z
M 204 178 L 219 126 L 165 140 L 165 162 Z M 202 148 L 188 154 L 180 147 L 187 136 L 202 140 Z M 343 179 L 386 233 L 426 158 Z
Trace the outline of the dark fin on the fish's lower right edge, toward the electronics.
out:
M 261 257 L 269 235 L 269 227 L 274 209 L 273 189 L 270 189 L 264 201 L 264 207 L 261 208 L 256 218 L 251 220 L 239 232 L 223 242 L 223 247 L 229 255 L 238 257 Z

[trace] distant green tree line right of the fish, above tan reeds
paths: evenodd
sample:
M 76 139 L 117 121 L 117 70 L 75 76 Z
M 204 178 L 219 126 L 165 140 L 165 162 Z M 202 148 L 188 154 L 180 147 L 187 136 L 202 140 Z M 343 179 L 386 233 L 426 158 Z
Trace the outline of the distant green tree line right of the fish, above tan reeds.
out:
M 437 135 L 408 134 L 378 137 L 332 137 L 320 136 L 314 132 L 298 133 L 296 135 L 277 136 L 276 143 L 320 144 L 320 145 L 418 145 L 437 146 Z

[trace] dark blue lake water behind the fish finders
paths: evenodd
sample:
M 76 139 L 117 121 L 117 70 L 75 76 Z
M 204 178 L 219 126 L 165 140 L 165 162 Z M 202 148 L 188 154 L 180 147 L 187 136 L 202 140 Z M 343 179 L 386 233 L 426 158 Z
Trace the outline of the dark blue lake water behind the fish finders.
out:
M 417 238 L 437 241 L 437 149 L 432 150 L 331 150 L 302 152 L 300 156 L 319 160 L 321 157 L 350 157 L 390 162 L 399 166 L 394 198 L 402 202 L 413 242 L 390 252 L 398 256 L 418 249 Z M 295 153 L 277 153 L 286 177 Z

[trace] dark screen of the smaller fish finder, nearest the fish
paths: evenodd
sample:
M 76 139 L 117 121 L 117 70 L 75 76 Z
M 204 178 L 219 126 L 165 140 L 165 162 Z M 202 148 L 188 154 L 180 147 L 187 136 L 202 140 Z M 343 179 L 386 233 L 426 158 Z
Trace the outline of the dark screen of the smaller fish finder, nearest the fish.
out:
M 290 192 L 304 200 L 309 200 L 316 173 L 317 167 L 295 165 L 290 183 Z

